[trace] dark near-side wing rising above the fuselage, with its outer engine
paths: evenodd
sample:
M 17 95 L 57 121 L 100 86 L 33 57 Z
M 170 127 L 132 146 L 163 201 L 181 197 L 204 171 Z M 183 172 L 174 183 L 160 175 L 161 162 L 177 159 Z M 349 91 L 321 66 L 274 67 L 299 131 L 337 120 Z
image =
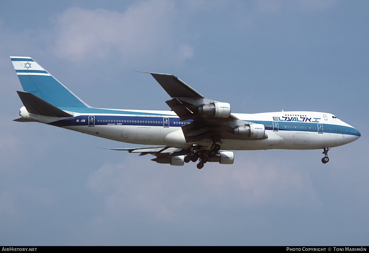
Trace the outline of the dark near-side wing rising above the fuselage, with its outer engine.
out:
M 252 124 L 239 120 L 231 114 L 229 103 L 204 98 L 199 92 L 169 74 L 150 73 L 163 87 L 172 99 L 165 103 L 174 111 L 180 120 L 193 120 L 182 126 L 186 142 L 196 142 L 206 138 L 212 138 L 221 142 L 221 139 L 252 140 L 253 137 L 239 133 L 239 127 Z M 249 127 L 251 128 L 251 127 Z M 266 137 L 265 137 L 266 138 Z

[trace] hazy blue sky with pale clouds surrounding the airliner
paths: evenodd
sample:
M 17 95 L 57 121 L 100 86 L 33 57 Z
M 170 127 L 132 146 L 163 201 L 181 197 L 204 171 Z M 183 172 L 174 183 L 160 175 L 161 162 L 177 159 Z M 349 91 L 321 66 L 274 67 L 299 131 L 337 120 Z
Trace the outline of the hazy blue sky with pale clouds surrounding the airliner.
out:
M 368 245 L 367 1 L 1 1 L 1 245 Z M 93 107 L 168 110 L 149 71 L 234 113 L 329 112 L 362 136 L 197 170 L 38 123 L 9 56 Z

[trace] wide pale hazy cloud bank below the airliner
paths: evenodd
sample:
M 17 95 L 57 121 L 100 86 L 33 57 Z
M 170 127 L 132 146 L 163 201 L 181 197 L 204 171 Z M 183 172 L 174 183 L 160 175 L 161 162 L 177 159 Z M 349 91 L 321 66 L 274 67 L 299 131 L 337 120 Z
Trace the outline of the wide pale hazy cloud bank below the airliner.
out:
M 307 174 L 257 158 L 246 163 L 238 154 L 234 165 L 207 163 L 201 171 L 194 163 L 175 167 L 134 156 L 125 164 L 105 164 L 89 176 L 87 187 L 102 197 L 106 217 L 134 210 L 154 219 L 177 220 L 194 206 L 213 205 L 220 210 L 263 205 L 280 210 L 320 208 Z

